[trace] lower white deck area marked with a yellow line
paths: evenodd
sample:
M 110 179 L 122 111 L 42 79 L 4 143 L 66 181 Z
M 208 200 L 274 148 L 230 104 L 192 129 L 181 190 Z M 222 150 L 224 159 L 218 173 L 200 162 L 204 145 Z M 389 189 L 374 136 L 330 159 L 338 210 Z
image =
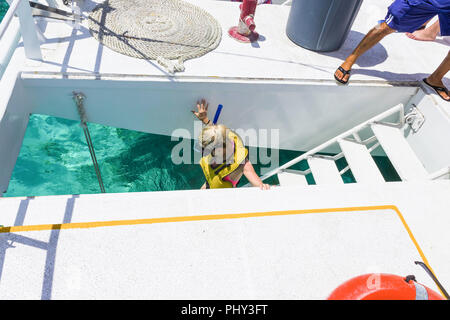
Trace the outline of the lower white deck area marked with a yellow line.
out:
M 18 227 L 0 234 L 0 298 L 324 299 L 364 273 L 439 292 L 414 261 L 450 286 L 449 192 L 442 180 L 4 198 Z

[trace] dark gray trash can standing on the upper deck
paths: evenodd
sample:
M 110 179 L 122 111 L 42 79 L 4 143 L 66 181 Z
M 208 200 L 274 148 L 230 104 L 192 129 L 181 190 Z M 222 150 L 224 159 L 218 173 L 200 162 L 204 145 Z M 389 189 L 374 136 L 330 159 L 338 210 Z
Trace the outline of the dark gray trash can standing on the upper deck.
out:
M 293 0 L 286 34 L 313 51 L 335 51 L 344 43 L 362 0 Z

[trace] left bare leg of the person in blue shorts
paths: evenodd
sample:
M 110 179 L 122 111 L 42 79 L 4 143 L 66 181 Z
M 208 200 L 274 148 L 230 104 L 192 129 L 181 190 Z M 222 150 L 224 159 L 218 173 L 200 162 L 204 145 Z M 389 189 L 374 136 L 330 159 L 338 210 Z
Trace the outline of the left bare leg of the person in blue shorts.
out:
M 367 50 L 372 48 L 378 42 L 381 41 L 385 36 L 395 32 L 394 29 L 390 28 L 386 22 L 383 22 L 377 25 L 375 28 L 370 30 L 366 36 L 361 40 L 358 46 L 353 50 L 353 52 L 345 59 L 345 61 L 341 64 L 341 67 L 344 70 L 350 70 L 352 66 L 355 64 L 356 60 L 364 54 Z M 336 70 L 336 77 L 343 81 L 347 81 L 350 75 L 345 75 L 344 77 L 340 70 Z

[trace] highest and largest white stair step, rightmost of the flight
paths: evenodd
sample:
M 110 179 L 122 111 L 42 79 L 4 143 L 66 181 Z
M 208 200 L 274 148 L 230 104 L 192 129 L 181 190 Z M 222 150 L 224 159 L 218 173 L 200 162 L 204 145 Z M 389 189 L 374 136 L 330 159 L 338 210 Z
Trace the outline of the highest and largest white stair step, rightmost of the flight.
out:
M 402 180 L 428 180 L 428 173 L 403 136 L 403 131 L 382 124 L 371 128 Z

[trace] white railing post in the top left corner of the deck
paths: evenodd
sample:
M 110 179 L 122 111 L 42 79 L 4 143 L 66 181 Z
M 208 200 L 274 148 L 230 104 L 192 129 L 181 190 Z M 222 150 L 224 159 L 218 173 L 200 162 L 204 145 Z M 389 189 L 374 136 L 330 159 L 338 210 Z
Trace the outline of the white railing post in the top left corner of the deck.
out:
M 10 7 L 0 23 L 0 43 L 2 43 L 3 36 L 8 30 L 14 15 L 17 15 L 19 18 L 20 33 L 23 38 L 25 56 L 28 59 L 42 60 L 41 46 L 28 0 L 14 0 L 8 1 L 8 3 L 10 3 Z M 0 64 L 2 64 L 1 61 Z

